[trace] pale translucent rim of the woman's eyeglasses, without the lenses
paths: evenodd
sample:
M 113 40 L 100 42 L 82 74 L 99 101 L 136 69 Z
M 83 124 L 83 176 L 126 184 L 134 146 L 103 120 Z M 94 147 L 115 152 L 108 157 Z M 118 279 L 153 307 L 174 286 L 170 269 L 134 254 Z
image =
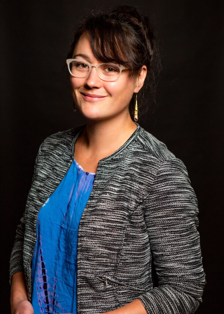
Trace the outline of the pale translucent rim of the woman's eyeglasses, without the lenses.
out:
M 84 63 L 84 64 L 87 64 L 87 65 L 88 65 L 88 68 L 89 68 L 88 73 L 87 73 L 87 74 L 85 73 L 85 75 L 83 75 L 83 76 L 76 76 L 76 75 L 74 75 L 74 74 L 71 72 L 71 69 L 70 69 L 70 63 L 71 63 L 72 61 L 80 61 L 80 62 L 82 62 L 82 63 Z M 93 63 L 89 63 L 89 62 L 86 62 L 86 61 L 80 60 L 80 59 L 67 59 L 67 60 L 66 60 L 66 63 L 67 63 L 67 66 L 68 66 L 68 71 L 69 71 L 69 73 L 70 73 L 72 76 L 76 77 L 76 78 L 85 78 L 85 77 L 87 77 L 87 76 L 89 75 L 89 73 L 91 72 L 92 67 L 95 67 L 95 68 L 96 68 L 96 73 L 98 74 L 99 78 L 101 78 L 103 81 L 107 81 L 107 82 L 114 82 L 114 81 L 116 81 L 116 80 L 120 77 L 121 72 L 125 69 L 125 67 L 124 67 L 123 65 L 116 64 L 116 63 L 111 63 L 111 62 L 93 64 Z M 120 70 L 119 75 L 118 75 L 115 79 L 112 79 L 113 76 L 111 76 L 111 79 L 105 79 L 105 78 L 103 78 L 103 77 L 101 76 L 100 71 L 99 71 L 99 66 L 102 66 L 102 65 L 107 65 L 108 67 L 109 67 L 109 66 L 111 66 L 111 67 L 113 67 L 113 66 L 114 66 L 114 67 L 117 67 L 117 68 Z

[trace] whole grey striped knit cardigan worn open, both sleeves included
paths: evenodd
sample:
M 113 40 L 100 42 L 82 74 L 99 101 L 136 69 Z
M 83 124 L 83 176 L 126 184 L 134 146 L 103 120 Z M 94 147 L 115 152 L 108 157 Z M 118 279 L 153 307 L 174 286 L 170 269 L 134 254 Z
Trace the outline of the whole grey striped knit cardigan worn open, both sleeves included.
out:
M 111 311 L 140 299 L 148 314 L 194 313 L 205 285 L 197 199 L 187 170 L 138 123 L 131 137 L 99 160 L 78 230 L 77 313 Z M 69 170 L 84 126 L 40 145 L 24 216 L 16 231 L 10 279 L 31 261 L 37 215 Z M 152 283 L 152 256 L 158 287 Z

